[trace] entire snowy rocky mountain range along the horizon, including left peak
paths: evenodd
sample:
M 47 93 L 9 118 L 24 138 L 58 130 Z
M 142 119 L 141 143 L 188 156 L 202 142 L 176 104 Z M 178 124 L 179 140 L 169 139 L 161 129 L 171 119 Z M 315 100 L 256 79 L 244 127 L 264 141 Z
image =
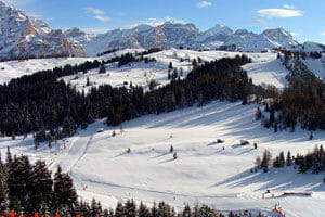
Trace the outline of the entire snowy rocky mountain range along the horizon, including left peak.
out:
M 218 24 L 200 31 L 194 24 L 166 22 L 162 25 L 139 25 L 130 29 L 113 29 L 102 35 L 87 34 L 79 28 L 52 29 L 41 20 L 0 1 L 0 58 L 76 55 L 94 56 L 112 49 L 191 48 L 260 52 L 282 47 L 304 49 L 287 30 L 268 29 L 261 34 L 233 29 Z M 309 42 L 306 48 L 323 51 L 322 44 Z

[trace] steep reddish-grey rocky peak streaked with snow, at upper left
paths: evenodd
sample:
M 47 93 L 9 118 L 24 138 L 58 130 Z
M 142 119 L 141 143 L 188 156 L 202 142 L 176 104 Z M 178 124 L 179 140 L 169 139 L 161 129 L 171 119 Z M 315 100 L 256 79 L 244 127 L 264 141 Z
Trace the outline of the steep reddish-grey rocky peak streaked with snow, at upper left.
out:
M 6 7 L 0 1 L 0 58 L 76 55 L 84 56 L 81 44 L 70 43 L 62 30 Z

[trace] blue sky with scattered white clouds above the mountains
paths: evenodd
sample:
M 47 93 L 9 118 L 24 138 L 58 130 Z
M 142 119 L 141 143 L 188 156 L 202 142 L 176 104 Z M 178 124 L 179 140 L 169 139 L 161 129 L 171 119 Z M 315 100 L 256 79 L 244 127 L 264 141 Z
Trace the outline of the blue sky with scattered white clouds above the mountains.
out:
M 261 33 L 284 27 L 300 41 L 325 43 L 324 0 L 3 0 L 54 28 L 103 33 L 166 21 L 206 30 L 221 23 Z

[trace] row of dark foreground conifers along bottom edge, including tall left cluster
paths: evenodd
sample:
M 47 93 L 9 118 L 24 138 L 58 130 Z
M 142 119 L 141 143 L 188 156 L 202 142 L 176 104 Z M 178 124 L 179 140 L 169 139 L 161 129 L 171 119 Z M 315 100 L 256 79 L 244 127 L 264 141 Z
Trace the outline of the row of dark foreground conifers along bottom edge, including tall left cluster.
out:
M 0 155 L 1 156 L 1 155 Z M 91 203 L 79 201 L 72 178 L 62 171 L 61 167 L 52 178 L 51 171 L 42 161 L 30 164 L 27 156 L 13 156 L 8 149 L 6 159 L 0 157 L 0 215 L 14 210 L 20 215 L 40 216 L 84 216 L 84 217 L 225 217 L 219 210 L 206 205 L 185 205 L 177 213 L 165 202 L 152 207 L 144 203 L 136 203 L 129 199 L 126 203 L 117 203 L 115 209 L 103 208 L 100 201 L 93 199 Z M 230 212 L 226 216 L 251 216 L 247 210 Z M 259 217 L 263 217 L 261 213 Z

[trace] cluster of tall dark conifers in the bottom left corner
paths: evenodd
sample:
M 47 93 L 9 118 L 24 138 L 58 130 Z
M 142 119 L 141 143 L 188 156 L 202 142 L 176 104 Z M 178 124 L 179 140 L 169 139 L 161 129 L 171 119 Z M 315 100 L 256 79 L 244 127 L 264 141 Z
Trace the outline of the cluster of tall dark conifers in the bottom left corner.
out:
M 73 179 L 61 167 L 52 178 L 42 161 L 30 164 L 27 156 L 0 156 L 0 213 L 42 215 L 76 214 L 79 206 Z

